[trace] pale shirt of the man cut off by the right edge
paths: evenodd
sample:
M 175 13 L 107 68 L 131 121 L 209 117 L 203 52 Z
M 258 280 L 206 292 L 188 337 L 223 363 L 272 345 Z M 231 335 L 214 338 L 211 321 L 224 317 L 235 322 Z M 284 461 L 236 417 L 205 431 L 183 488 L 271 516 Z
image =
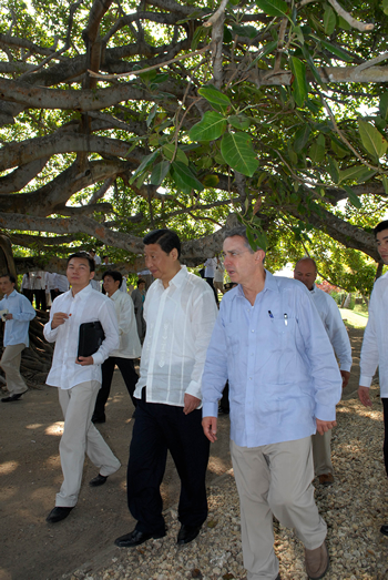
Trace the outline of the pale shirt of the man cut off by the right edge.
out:
M 375 282 L 364 333 L 359 384 L 370 387 L 379 366 L 380 396 L 388 397 L 388 273 Z

